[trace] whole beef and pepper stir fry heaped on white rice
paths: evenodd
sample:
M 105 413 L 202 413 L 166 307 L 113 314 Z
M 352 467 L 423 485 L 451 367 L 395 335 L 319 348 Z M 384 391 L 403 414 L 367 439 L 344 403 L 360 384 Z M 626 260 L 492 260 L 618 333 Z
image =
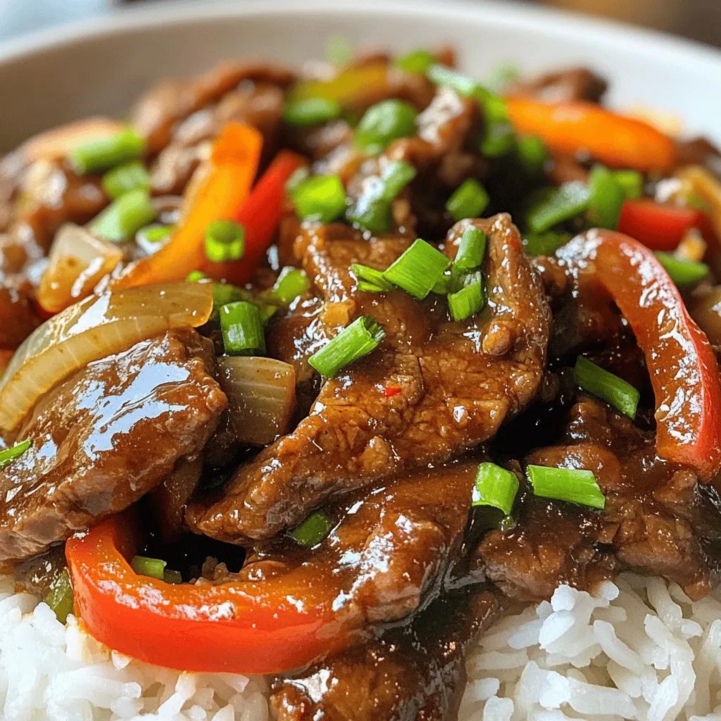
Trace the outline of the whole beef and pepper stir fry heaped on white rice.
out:
M 278 718 L 446 720 L 516 601 L 721 580 L 721 155 L 572 68 L 222 63 L 0 166 L 0 560 Z

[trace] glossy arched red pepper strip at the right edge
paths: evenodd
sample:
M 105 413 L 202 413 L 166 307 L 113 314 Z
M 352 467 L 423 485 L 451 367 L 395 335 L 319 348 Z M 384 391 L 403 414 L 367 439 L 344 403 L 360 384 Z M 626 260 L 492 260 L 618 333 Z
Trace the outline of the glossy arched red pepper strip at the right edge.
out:
M 704 332 L 663 265 L 640 242 L 593 229 L 557 253 L 573 273 L 594 273 L 633 329 L 656 399 L 656 449 L 702 481 L 721 467 L 721 379 Z

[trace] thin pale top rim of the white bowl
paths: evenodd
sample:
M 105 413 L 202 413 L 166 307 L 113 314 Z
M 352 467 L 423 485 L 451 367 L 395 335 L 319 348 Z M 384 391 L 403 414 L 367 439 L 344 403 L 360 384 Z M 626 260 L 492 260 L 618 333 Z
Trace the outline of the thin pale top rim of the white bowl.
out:
M 168 25 L 193 25 L 224 18 L 260 18 L 278 12 L 302 16 L 312 13 L 339 20 L 358 15 L 397 17 L 404 13 L 429 21 L 441 16 L 459 22 L 472 18 L 531 34 L 552 35 L 559 40 L 564 37 L 578 39 L 578 33 L 583 33 L 588 43 L 613 45 L 621 52 L 637 56 L 663 56 L 666 62 L 693 66 L 696 72 L 721 74 L 721 50 L 711 45 L 660 30 L 513 0 L 335 0 L 332 4 L 324 0 L 205 0 L 192 4 L 161 0 L 147 6 L 111 9 L 99 17 L 66 22 L 4 40 L 0 42 L 0 69 L 7 63 L 84 40 Z M 632 51 L 627 49 L 629 44 Z

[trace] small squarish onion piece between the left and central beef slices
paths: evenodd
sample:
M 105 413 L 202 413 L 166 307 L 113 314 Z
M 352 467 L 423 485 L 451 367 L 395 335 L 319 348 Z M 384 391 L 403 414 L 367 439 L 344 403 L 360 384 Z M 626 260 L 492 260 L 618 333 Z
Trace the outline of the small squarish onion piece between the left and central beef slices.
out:
M 239 443 L 267 446 L 288 430 L 296 405 L 296 369 L 273 358 L 218 358 Z

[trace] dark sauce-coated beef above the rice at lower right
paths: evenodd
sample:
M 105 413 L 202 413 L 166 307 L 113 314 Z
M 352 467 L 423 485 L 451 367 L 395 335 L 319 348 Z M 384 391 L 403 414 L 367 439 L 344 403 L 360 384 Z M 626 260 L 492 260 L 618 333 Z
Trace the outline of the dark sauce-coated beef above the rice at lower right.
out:
M 642 572 L 663 575 L 700 598 L 720 578 L 721 503 L 689 469 L 656 456 L 653 432 L 594 399 L 581 399 L 557 446 L 528 463 L 592 470 L 603 513 L 521 495 L 518 527 L 494 532 L 480 554 L 488 575 L 510 596 L 547 598 L 563 581 L 593 587 L 614 570 L 609 554 Z

